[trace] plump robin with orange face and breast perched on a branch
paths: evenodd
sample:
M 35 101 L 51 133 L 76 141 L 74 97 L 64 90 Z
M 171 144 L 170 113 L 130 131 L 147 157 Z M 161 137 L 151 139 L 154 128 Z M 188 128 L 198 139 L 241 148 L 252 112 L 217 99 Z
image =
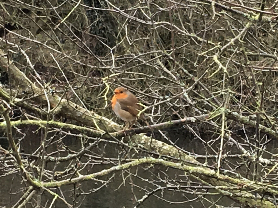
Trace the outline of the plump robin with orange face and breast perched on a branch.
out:
M 142 106 L 137 104 L 139 101 L 135 95 L 124 87 L 117 87 L 114 93 L 111 100 L 112 109 L 121 120 L 126 122 L 125 128 L 127 128 L 129 124 L 131 124 L 131 128 L 136 121 L 138 113 L 142 110 Z M 144 119 L 143 113 L 140 114 L 139 118 L 144 120 L 148 127 L 152 129 L 150 124 Z

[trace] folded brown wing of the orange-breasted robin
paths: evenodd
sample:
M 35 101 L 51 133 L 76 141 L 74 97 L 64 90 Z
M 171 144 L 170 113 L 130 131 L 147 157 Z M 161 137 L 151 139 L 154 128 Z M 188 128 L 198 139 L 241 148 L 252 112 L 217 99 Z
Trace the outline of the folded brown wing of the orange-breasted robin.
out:
M 132 93 L 126 98 L 117 99 L 117 101 L 120 103 L 122 110 L 129 112 L 133 116 L 137 116 L 139 111 L 142 110 L 142 107 L 136 104 L 139 103 L 139 101 Z

